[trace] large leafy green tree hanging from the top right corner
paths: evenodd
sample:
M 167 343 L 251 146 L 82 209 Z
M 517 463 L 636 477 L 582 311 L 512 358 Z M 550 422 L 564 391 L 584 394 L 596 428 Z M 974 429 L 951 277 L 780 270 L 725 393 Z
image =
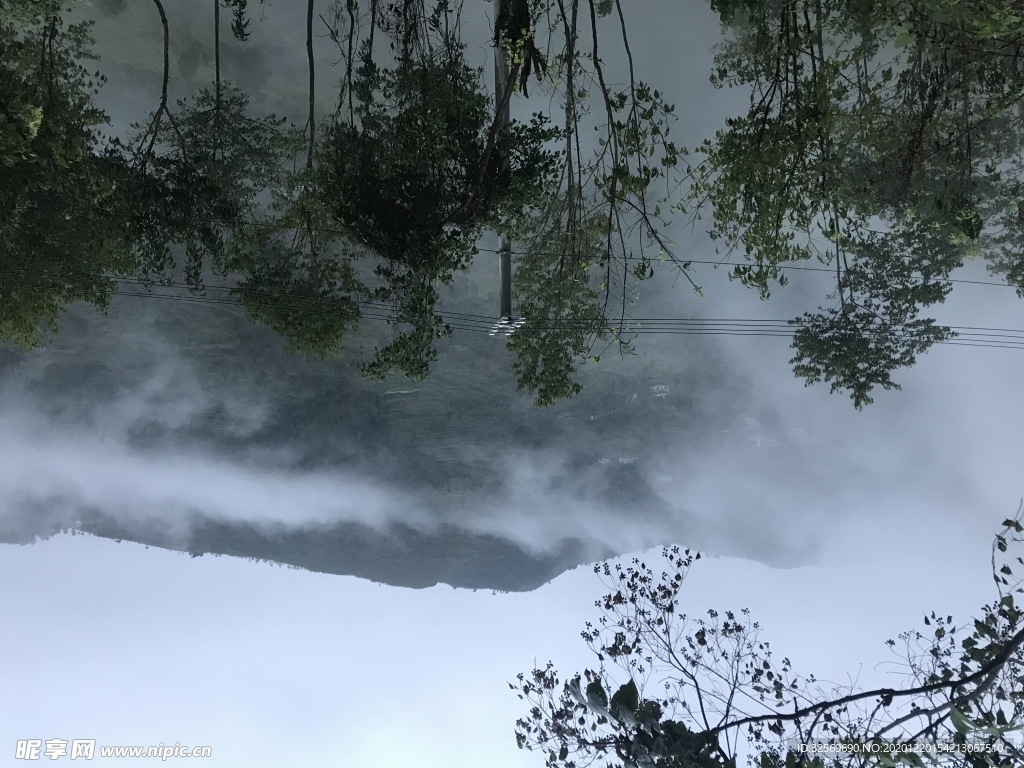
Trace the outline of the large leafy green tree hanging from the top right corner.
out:
M 831 307 L 793 321 L 798 376 L 854 404 L 952 334 L 923 307 L 965 258 L 1019 272 L 1024 16 L 1013 3 L 718 0 L 713 82 L 751 108 L 700 147 L 680 208 L 750 262 L 768 298 L 785 264 L 836 268 Z

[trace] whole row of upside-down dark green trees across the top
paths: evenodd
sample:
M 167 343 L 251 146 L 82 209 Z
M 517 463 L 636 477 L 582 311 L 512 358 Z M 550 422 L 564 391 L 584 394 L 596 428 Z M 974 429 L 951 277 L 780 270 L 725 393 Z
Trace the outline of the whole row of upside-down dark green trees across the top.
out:
M 384 317 L 392 333 L 362 372 L 423 379 L 453 331 L 438 288 L 498 231 L 518 254 L 513 369 L 545 406 L 580 391 L 582 362 L 631 349 L 637 284 L 689 279 L 664 232 L 707 212 L 745 258 L 732 276 L 763 298 L 786 264 L 835 268 L 824 305 L 792 321 L 792 362 L 859 408 L 954 335 L 921 312 L 965 259 L 1024 293 L 1013 2 L 716 1 L 712 80 L 749 89 L 751 106 L 691 151 L 634 70 L 618 0 L 499 2 L 489 42 L 507 66 L 489 89 L 467 63 L 458 3 L 309 0 L 295 41 L 308 55 L 302 127 L 221 77 L 221 16 L 245 42 L 245 0 L 214 0 L 214 80 L 172 103 L 173 30 L 152 4 L 161 90 L 112 139 L 88 23 L 51 0 L 0 0 L 4 341 L 42 343 L 63 307 L 102 309 L 119 281 L 201 294 L 214 274 L 307 356 L 338 356 L 361 321 Z M 313 110 L 314 26 L 343 71 L 328 116 Z M 503 119 L 529 89 L 557 109 Z

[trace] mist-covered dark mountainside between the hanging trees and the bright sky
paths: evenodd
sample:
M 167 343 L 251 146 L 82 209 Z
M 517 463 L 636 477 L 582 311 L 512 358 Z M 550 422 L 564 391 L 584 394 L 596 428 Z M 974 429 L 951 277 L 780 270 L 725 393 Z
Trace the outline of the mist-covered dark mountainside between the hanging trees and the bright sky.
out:
M 474 275 L 453 306 L 489 298 Z M 1016 498 L 1024 416 L 987 403 L 1012 401 L 1020 364 L 990 350 L 935 352 L 857 413 L 793 381 L 784 340 L 648 336 L 539 410 L 500 338 L 457 331 L 425 382 L 360 377 L 372 343 L 309 361 L 233 308 L 74 308 L 48 346 L 0 351 L 0 539 L 516 591 L 667 544 L 781 567 L 884 556 L 987 535 Z

